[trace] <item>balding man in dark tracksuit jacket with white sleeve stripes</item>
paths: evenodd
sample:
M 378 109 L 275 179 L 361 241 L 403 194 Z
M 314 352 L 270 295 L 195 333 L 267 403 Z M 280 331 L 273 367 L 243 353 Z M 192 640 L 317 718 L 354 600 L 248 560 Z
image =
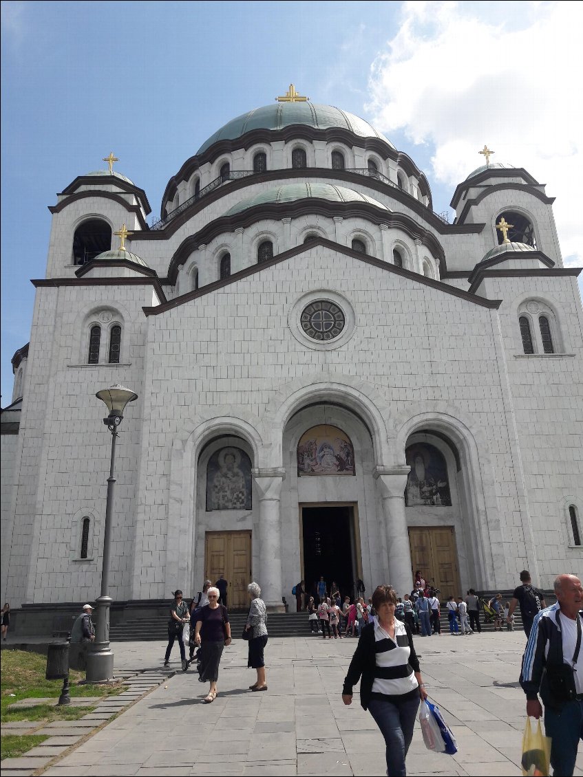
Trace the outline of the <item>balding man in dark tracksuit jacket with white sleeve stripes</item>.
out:
M 559 575 L 554 581 L 554 591 L 557 604 L 541 610 L 532 624 L 522 657 L 520 685 L 526 694 L 526 714 L 537 719 L 543 714 L 538 698 L 540 692 L 545 707 L 545 733 L 552 739 L 550 764 L 553 775 L 570 777 L 579 740 L 583 740 L 583 644 L 580 637 L 583 587 L 578 577 Z M 560 667 L 561 664 L 574 669 L 576 697 L 572 701 L 557 699 L 549 685 L 547 673 L 552 673 L 553 666 Z

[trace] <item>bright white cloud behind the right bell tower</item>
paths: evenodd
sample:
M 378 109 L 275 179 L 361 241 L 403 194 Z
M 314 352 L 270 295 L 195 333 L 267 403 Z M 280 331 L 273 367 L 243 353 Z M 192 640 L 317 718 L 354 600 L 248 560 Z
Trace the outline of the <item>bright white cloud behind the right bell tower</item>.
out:
M 480 166 L 484 143 L 546 183 L 570 264 L 583 242 L 582 21 L 573 2 L 405 3 L 367 106 L 380 130 L 434 148 L 448 186 Z

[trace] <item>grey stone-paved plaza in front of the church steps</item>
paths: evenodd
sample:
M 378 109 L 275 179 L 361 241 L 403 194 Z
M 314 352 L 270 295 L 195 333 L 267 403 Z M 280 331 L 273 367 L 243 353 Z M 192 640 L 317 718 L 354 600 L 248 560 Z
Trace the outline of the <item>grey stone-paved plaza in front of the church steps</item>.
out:
M 162 666 L 164 643 L 117 643 L 118 671 Z M 384 775 L 384 742 L 358 692 L 340 698 L 356 639 L 272 639 L 269 690 L 253 693 L 246 643 L 225 649 L 218 697 L 180 672 L 47 769 L 46 775 Z M 431 699 L 456 735 L 455 756 L 426 750 L 418 724 L 410 775 L 520 775 L 525 695 L 518 686 L 523 632 L 417 638 Z M 355 689 L 358 691 L 358 688 Z M 583 753 L 576 775 L 583 775 Z

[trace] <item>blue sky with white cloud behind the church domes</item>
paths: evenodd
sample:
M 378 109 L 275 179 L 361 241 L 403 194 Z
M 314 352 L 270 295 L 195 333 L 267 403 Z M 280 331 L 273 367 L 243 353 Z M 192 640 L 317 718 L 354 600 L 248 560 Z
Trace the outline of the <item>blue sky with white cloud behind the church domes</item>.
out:
M 480 165 L 484 143 L 498 152 L 494 161 L 527 166 L 547 193 L 568 199 L 569 208 L 555 207 L 557 227 L 564 256 L 580 263 L 581 195 L 572 170 L 581 167 L 580 111 L 568 122 L 547 121 L 540 138 L 530 138 L 532 117 L 502 117 L 498 90 L 484 88 L 489 75 L 498 84 L 518 75 L 521 95 L 532 88 L 543 111 L 551 96 L 537 64 L 537 35 L 546 30 L 553 82 L 563 69 L 581 70 L 580 45 L 568 51 L 565 40 L 581 11 L 571 11 L 565 26 L 565 8 L 2 2 L 2 406 L 12 397 L 10 358 L 30 338 L 30 278 L 44 277 L 47 206 L 56 194 L 75 176 L 104 169 L 101 159 L 113 151 L 116 169 L 145 189 L 158 216 L 169 177 L 202 142 L 232 117 L 271 103 L 290 82 L 313 102 L 357 113 L 384 131 L 426 172 L 436 211 L 449 207 L 455 183 Z M 476 60 L 481 44 L 495 54 L 508 51 L 509 40 L 511 57 Z M 524 110 L 534 107 L 529 100 Z M 571 167 L 569 176 L 557 174 L 557 159 Z

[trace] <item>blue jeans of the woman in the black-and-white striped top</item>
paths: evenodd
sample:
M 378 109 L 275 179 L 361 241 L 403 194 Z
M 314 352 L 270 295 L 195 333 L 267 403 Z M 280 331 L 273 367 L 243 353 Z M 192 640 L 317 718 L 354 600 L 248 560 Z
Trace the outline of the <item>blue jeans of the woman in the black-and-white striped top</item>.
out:
M 368 712 L 373 719 L 386 744 L 386 773 L 389 777 L 407 775 L 405 758 L 413 739 L 413 729 L 419 709 L 419 696 L 404 702 L 384 702 L 371 699 L 368 702 Z

